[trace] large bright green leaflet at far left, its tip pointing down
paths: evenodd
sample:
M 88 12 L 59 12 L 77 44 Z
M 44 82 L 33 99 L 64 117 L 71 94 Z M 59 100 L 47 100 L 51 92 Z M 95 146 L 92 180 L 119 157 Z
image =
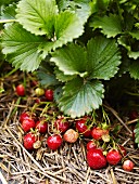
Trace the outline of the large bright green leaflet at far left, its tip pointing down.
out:
M 34 71 L 41 62 L 38 48 L 42 42 L 43 38 L 31 35 L 15 23 L 3 30 L 2 52 L 15 68 Z

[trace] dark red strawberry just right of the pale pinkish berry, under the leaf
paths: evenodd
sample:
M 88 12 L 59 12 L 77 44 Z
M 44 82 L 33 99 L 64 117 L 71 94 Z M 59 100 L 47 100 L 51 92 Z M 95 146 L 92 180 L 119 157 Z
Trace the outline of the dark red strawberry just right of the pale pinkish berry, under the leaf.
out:
M 85 118 L 81 118 L 81 119 L 77 120 L 76 124 L 75 124 L 76 130 L 79 133 L 83 133 L 84 136 L 86 136 L 86 137 L 91 136 L 91 129 L 88 128 L 87 121 L 88 121 L 88 118 L 85 117 Z

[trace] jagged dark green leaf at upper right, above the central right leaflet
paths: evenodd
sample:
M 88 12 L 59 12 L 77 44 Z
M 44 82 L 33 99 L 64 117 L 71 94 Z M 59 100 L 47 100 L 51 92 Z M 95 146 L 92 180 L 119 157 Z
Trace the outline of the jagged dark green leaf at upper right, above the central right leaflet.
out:
M 118 15 L 110 14 L 109 16 L 96 16 L 92 17 L 90 27 L 100 28 L 101 32 L 104 34 L 108 38 L 116 37 L 118 34 L 122 34 L 122 23 Z

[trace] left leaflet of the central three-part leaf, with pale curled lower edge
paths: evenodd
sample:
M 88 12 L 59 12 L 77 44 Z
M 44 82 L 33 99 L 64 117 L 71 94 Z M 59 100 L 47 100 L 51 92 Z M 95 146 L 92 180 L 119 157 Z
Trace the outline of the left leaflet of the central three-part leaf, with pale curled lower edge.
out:
M 77 44 L 71 43 L 67 47 L 56 50 L 52 53 L 50 61 L 54 62 L 64 75 L 79 75 L 84 77 L 87 74 L 86 51 Z

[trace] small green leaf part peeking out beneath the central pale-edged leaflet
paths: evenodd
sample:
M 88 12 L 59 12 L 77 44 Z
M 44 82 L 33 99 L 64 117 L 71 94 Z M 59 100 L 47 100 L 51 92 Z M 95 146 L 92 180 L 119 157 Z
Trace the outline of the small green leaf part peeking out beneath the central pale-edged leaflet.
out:
M 76 77 L 76 75 L 75 76 L 64 75 L 64 73 L 60 70 L 58 67 L 55 67 L 54 74 L 56 79 L 62 82 L 67 82 Z

